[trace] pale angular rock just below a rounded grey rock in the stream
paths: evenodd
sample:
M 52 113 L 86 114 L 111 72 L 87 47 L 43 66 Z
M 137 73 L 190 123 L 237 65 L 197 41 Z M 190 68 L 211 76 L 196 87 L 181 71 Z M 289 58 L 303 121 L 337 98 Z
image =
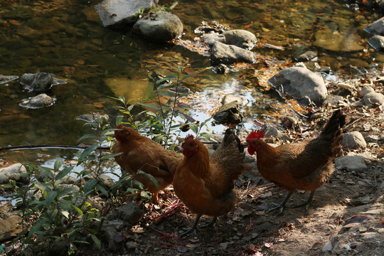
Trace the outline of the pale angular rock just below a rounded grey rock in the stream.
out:
M 245 50 L 238 46 L 228 46 L 220 42 L 216 42 L 213 45 L 210 55 L 212 65 L 218 65 L 220 63 L 254 63 L 255 61 L 256 55 L 250 50 Z

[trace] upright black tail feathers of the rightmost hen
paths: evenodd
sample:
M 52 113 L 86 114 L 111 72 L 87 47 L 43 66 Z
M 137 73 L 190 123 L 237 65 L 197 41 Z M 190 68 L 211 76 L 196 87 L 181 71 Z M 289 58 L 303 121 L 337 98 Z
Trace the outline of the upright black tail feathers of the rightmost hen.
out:
M 341 110 L 336 110 L 326 123 L 320 136 L 324 139 L 340 141 L 343 139 L 343 126 L 346 124 L 346 116 Z

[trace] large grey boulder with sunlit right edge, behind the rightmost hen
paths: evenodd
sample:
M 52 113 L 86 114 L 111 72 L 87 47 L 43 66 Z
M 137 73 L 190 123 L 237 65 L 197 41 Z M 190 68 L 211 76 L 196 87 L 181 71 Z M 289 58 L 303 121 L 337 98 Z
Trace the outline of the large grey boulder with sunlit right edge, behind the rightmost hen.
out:
M 308 96 L 316 105 L 321 105 L 327 95 L 321 75 L 304 67 L 286 68 L 268 82 L 280 92 L 297 99 Z

